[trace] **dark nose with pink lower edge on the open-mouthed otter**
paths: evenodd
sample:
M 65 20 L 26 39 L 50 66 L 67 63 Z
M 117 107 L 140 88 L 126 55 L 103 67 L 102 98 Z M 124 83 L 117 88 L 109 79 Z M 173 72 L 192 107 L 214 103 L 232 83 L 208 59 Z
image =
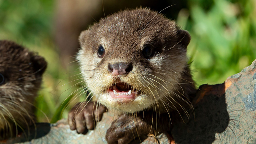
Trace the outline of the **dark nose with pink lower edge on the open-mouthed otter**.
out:
M 115 63 L 109 64 L 109 71 L 112 72 L 112 75 L 123 75 L 132 71 L 132 64 L 128 63 Z

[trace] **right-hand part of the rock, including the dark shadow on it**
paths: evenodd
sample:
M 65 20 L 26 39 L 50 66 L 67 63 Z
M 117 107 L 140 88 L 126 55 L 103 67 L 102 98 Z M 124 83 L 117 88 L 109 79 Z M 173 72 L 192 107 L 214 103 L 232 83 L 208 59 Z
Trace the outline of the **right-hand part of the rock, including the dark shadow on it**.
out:
M 172 130 L 176 144 L 256 144 L 256 60 L 223 84 L 201 85 L 192 103 Z

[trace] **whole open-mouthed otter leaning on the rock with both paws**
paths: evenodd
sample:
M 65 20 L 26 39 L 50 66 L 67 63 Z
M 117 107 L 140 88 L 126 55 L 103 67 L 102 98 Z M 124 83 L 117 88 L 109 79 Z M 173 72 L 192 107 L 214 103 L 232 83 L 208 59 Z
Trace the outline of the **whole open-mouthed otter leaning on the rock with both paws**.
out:
M 71 109 L 71 130 L 94 129 L 109 109 L 119 113 L 106 133 L 109 144 L 160 133 L 171 139 L 172 121 L 193 108 L 190 39 L 175 21 L 148 8 L 114 13 L 81 32 L 77 59 L 97 101 Z

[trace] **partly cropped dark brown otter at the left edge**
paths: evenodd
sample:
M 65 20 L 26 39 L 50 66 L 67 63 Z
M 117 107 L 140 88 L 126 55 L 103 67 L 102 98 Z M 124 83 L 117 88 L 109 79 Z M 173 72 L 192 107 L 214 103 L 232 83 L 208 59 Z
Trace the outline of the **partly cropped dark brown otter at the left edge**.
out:
M 0 40 L 0 139 L 35 123 L 34 100 L 47 67 L 45 59 L 12 41 Z

